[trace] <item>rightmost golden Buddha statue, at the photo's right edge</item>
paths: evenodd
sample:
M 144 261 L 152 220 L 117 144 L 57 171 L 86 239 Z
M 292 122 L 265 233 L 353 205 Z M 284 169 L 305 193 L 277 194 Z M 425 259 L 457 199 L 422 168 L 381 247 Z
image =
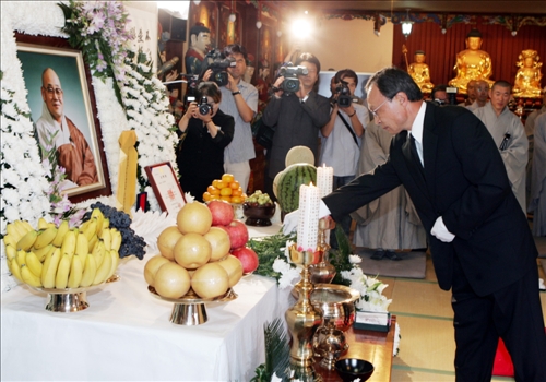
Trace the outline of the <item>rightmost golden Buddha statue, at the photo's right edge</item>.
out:
M 512 94 L 517 97 L 541 97 L 541 73 L 542 62 L 538 52 L 533 49 L 526 49 L 518 57 L 520 61 L 515 63 L 518 73 Z

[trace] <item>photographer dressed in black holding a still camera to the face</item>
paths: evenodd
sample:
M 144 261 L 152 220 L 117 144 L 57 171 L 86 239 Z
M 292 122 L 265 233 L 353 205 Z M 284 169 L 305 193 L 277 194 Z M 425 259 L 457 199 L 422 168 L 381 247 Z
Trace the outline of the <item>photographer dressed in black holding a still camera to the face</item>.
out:
M 177 164 L 183 192 L 202 202 L 206 188 L 224 174 L 224 148 L 233 140 L 235 122 L 219 110 L 222 93 L 214 82 L 199 84 L 197 95 L 199 104 L 190 103 L 178 122 Z

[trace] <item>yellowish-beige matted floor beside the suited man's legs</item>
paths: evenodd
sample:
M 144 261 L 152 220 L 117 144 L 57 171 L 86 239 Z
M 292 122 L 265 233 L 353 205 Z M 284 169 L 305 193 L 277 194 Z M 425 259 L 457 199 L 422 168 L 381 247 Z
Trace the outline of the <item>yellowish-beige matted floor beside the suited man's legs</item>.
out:
M 539 274 L 546 280 L 539 267 Z M 393 359 L 393 382 L 454 381 L 453 339 L 450 298 L 438 287 L 430 258 L 427 258 L 425 279 L 380 277 L 389 284 L 383 291 L 392 298 L 389 308 L 400 324 L 400 353 Z M 546 293 L 541 293 L 546 321 Z M 494 377 L 491 381 L 514 381 L 512 378 Z

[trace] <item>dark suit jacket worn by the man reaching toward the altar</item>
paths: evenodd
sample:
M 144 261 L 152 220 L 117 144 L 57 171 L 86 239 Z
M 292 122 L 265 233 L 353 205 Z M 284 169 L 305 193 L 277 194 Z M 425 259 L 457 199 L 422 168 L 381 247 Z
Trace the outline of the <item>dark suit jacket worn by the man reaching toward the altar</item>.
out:
M 491 135 L 471 111 L 427 103 L 424 172 L 411 159 L 407 131 L 391 143 L 389 160 L 323 199 L 334 219 L 404 184 L 427 231 L 438 283 L 450 289 L 456 256 L 474 291 L 488 295 L 536 266 L 526 216 L 512 193 Z M 430 235 L 442 216 L 446 243 Z

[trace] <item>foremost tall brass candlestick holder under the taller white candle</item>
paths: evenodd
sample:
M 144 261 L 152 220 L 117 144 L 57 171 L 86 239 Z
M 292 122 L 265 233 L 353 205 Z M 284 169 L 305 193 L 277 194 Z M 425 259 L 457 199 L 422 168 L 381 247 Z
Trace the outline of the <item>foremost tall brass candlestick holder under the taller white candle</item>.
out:
M 317 327 L 322 323 L 322 313 L 311 305 L 313 285 L 310 279 L 309 266 L 319 263 L 318 251 L 298 251 L 296 244 L 289 248 L 290 262 L 302 265 L 301 280 L 296 284 L 298 301 L 285 313 L 288 332 L 292 335 L 290 366 L 295 375 L 304 382 L 322 382 L 312 367 L 312 338 Z

